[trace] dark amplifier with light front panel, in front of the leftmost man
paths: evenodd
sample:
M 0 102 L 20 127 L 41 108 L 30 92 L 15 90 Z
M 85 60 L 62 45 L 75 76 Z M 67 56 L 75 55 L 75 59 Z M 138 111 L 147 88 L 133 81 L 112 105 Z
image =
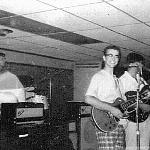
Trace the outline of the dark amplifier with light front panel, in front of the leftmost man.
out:
M 32 102 L 2 103 L 1 121 L 4 127 L 40 124 L 44 120 L 44 104 Z

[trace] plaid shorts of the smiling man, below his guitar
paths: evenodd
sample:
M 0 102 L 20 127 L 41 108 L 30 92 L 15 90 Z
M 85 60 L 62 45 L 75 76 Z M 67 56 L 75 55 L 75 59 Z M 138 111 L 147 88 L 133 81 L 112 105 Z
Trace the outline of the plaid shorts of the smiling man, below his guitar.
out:
M 125 131 L 122 125 L 107 133 L 96 128 L 96 136 L 98 150 L 125 150 Z

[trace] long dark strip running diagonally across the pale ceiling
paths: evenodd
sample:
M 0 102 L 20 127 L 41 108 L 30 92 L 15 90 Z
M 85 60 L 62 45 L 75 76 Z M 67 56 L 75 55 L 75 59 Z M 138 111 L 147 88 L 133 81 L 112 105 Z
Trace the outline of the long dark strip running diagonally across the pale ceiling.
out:
M 4 12 L 4 14 L 9 13 Z M 40 23 L 22 16 L 1 19 L 0 24 L 77 45 L 101 42 L 90 37 L 68 32 L 66 30 Z

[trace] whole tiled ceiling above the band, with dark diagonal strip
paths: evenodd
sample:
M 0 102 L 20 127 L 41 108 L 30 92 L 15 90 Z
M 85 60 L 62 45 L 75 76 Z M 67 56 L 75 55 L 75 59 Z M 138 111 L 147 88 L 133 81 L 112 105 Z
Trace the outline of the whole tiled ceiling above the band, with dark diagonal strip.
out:
M 149 0 L 0 0 L 0 49 L 96 63 L 107 45 L 142 54 L 150 67 Z

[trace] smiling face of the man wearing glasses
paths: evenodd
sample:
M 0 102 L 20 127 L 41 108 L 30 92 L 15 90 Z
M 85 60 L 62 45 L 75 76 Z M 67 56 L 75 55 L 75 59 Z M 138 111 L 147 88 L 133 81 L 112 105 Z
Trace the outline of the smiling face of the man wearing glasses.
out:
M 119 62 L 119 51 L 114 49 L 108 49 L 103 60 L 105 62 L 105 67 L 114 68 Z

